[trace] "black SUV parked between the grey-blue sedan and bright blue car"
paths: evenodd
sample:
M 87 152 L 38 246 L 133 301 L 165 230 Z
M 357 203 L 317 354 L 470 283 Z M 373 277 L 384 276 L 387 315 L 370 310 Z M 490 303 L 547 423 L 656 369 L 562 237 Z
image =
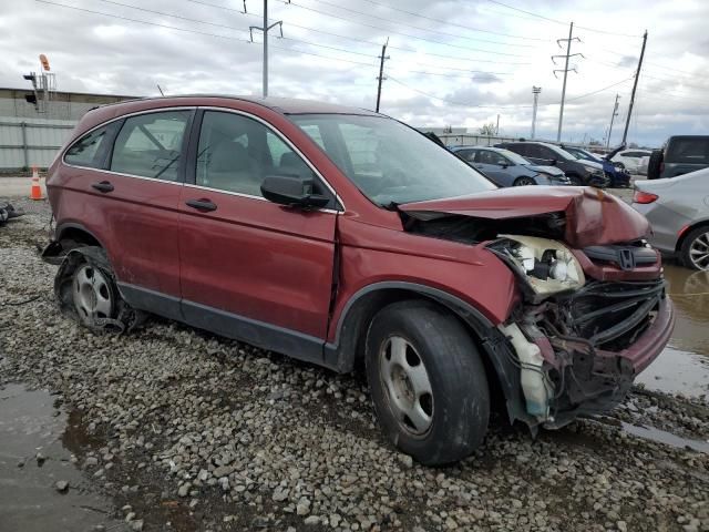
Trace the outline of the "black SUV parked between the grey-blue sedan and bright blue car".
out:
M 540 166 L 558 166 L 568 176 L 572 185 L 608 186 L 603 165 L 593 161 L 580 161 L 571 153 L 546 142 L 503 142 L 495 147 L 504 147 L 518 153 Z

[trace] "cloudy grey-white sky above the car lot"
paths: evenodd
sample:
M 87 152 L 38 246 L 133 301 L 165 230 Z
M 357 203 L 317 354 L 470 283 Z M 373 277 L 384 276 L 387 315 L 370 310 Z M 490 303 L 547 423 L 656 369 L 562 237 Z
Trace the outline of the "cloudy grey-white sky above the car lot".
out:
M 0 86 L 23 88 L 45 53 L 63 91 L 157 95 L 260 94 L 263 0 L 2 0 Z M 706 0 L 269 1 L 271 95 L 373 109 L 378 55 L 389 40 L 381 111 L 413 125 L 530 135 L 532 85 L 542 88 L 537 137 L 555 139 L 572 43 L 563 140 L 612 144 L 627 115 L 641 34 L 645 64 L 629 142 L 709 133 Z M 565 47 L 565 42 L 562 42 Z

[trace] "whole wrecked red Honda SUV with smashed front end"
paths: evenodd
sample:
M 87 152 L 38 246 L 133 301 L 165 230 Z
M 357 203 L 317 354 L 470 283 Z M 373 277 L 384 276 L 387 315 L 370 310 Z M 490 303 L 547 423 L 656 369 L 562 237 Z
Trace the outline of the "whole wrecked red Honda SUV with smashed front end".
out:
M 672 329 L 643 216 L 582 187 L 497 190 L 390 117 L 184 96 L 89 112 L 52 164 L 62 308 L 153 313 L 350 371 L 428 464 L 621 401 Z M 499 393 L 493 391 L 497 390 Z

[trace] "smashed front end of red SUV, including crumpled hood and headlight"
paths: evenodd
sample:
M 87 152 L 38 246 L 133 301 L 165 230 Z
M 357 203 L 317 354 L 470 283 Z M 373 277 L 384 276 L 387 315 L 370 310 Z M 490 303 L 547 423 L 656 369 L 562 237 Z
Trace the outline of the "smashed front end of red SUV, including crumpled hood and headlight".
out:
M 518 188 L 399 208 L 407 231 L 484 246 L 515 274 L 521 297 L 484 344 L 511 419 L 557 428 L 620 402 L 674 311 L 643 216 L 599 191 Z

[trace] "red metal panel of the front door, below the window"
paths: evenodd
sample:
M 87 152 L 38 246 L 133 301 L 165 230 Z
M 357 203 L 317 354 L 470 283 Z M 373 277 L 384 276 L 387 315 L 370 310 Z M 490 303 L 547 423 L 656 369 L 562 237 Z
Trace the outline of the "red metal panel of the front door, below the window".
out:
M 218 207 L 201 213 L 188 200 Z M 179 201 L 182 297 L 325 338 L 336 214 L 185 186 Z

